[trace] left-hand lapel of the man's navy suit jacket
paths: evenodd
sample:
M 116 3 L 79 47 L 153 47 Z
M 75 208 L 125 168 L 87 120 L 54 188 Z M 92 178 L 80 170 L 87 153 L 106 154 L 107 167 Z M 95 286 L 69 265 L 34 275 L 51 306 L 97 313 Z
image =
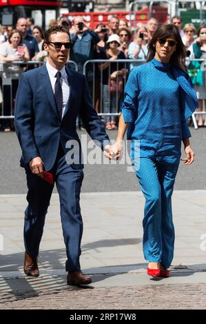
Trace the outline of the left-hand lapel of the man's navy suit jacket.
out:
M 41 75 L 41 78 L 42 78 L 41 83 L 42 83 L 42 85 L 43 85 L 43 87 L 45 89 L 45 93 L 46 93 L 46 95 L 48 97 L 48 100 L 50 101 L 50 105 L 52 106 L 56 116 L 60 119 L 59 112 L 58 112 L 57 107 L 56 107 L 56 101 L 54 99 L 54 92 L 52 90 L 52 85 L 51 85 L 51 82 L 50 82 L 50 77 L 49 77 L 46 65 L 42 66 L 40 75 Z

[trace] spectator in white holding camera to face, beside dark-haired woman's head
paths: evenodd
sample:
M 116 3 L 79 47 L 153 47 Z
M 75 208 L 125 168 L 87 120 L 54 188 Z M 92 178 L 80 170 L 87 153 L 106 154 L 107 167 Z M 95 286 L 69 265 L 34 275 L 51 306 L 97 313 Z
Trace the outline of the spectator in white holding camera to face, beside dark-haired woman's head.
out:
M 136 33 L 134 34 L 134 41 L 130 43 L 128 48 L 129 59 L 146 59 L 147 57 L 147 43 L 148 43 L 148 33 L 147 28 L 141 24 L 138 26 Z M 140 63 L 130 64 L 130 70 L 135 66 L 140 65 Z

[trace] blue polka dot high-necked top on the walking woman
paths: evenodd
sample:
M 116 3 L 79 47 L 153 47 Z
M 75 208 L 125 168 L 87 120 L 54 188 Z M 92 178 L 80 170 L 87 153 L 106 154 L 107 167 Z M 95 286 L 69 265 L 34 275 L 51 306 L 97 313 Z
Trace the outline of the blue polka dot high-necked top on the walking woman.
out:
M 140 140 L 140 156 L 179 163 L 181 139 L 190 137 L 180 85 L 169 63 L 156 60 L 134 68 L 125 86 L 123 118 L 129 139 Z M 134 150 L 134 148 L 133 148 Z

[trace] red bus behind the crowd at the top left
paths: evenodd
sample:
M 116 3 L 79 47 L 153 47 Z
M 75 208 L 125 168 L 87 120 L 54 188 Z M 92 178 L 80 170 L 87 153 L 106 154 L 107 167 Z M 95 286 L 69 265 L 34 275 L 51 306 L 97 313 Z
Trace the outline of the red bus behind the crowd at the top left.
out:
M 15 25 L 19 17 L 33 17 L 36 25 L 45 28 L 58 17 L 60 7 L 61 0 L 0 0 L 0 23 Z

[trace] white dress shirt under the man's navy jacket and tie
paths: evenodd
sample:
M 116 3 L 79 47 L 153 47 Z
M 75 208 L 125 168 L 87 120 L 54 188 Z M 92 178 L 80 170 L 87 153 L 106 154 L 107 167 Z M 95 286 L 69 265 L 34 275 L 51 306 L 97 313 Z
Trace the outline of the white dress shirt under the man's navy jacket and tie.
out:
M 56 70 L 55 68 L 53 68 L 53 66 L 50 65 L 50 63 L 48 61 L 46 63 L 46 68 L 48 69 L 48 74 L 49 74 L 49 77 L 50 77 L 52 90 L 54 92 L 55 83 L 56 83 L 55 75 L 59 70 Z M 62 117 L 61 117 L 61 118 L 63 118 L 63 114 L 65 112 L 66 104 L 67 104 L 68 99 L 70 97 L 70 85 L 68 83 L 68 75 L 65 72 L 65 66 L 63 66 L 63 68 L 59 72 L 61 72 L 60 82 L 61 82 L 61 88 L 62 88 L 62 94 L 63 94 L 63 108 L 62 108 Z

